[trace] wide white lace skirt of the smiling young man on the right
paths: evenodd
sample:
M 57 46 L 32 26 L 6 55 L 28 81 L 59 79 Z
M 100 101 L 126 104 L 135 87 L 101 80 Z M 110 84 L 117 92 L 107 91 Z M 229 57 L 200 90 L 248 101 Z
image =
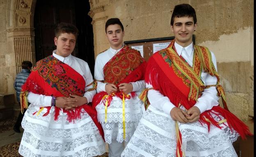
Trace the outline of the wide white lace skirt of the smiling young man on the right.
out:
M 213 116 L 217 121 L 218 118 Z M 232 143 L 239 134 L 224 124 L 222 129 L 199 122 L 178 123 L 185 157 L 237 157 Z M 149 106 L 121 157 L 176 157 L 175 121 Z

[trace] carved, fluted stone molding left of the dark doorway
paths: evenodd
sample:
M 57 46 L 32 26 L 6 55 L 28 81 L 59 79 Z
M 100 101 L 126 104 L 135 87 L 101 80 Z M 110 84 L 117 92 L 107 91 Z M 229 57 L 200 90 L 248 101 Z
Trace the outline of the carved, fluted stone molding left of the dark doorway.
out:
M 34 47 L 34 10 L 37 0 L 7 1 L 7 51 L 15 60 L 16 73 L 21 62 L 36 62 Z

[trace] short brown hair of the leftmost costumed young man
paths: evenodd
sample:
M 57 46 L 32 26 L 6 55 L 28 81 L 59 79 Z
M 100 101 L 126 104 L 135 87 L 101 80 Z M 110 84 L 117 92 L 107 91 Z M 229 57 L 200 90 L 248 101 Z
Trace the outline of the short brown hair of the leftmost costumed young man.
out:
M 59 38 L 61 33 L 72 33 L 77 38 L 78 29 L 73 24 L 60 22 L 55 29 L 55 37 Z

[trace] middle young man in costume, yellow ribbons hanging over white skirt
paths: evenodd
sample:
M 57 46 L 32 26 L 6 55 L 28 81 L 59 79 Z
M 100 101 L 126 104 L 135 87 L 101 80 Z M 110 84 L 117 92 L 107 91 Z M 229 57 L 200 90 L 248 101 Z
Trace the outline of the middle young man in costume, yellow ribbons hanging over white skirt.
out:
M 120 157 L 123 143 L 130 140 L 145 111 L 138 95 L 146 87 L 146 62 L 139 51 L 123 45 L 123 24 L 118 18 L 107 20 L 105 32 L 110 49 L 96 57 L 97 94 L 92 104 L 109 144 L 109 157 Z

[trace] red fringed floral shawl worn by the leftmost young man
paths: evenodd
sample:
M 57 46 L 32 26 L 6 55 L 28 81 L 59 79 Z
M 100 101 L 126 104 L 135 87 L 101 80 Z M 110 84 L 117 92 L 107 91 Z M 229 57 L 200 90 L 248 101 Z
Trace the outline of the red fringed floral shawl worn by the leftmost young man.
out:
M 85 80 L 69 65 L 57 60 L 53 55 L 50 55 L 36 63 L 27 81 L 23 84 L 20 95 L 21 111 L 23 111 L 23 108 L 27 108 L 28 92 L 55 97 L 69 97 L 69 94 L 83 96 L 85 93 Z M 43 115 L 46 116 L 49 114 L 52 107 L 47 106 L 44 108 L 47 108 L 47 112 Z M 54 120 L 57 120 L 60 108 L 56 106 L 54 106 L 54 108 Z M 63 112 L 67 113 L 67 120 L 69 122 L 74 122 L 75 119 L 81 118 L 82 108 L 94 121 L 104 139 L 103 129 L 97 120 L 97 112 L 91 106 L 84 104 L 75 108 L 75 110 L 63 109 Z

